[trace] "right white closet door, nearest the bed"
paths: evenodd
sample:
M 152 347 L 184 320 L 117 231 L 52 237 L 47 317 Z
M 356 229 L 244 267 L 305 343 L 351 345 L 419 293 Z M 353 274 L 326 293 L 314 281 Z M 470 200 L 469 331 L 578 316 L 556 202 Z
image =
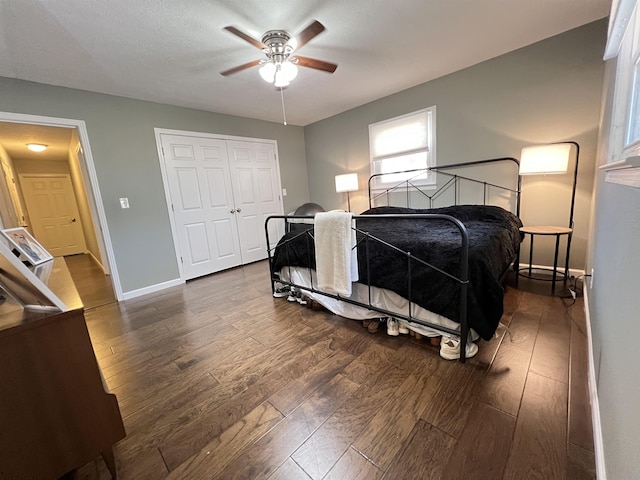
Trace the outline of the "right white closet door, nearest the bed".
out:
M 255 262 L 267 258 L 266 218 L 282 215 L 275 145 L 228 140 L 227 146 L 242 262 Z M 272 228 L 276 225 L 278 222 L 273 222 Z M 277 241 L 279 237 L 278 232 L 269 232 L 270 239 Z

